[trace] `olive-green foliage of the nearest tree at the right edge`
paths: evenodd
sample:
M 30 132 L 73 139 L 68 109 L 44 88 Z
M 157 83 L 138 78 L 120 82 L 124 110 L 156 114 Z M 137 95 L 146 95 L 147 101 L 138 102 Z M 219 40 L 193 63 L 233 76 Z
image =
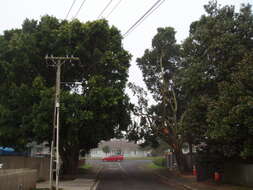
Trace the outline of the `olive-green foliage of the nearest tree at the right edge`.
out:
M 253 155 L 253 64 L 252 55 L 238 63 L 231 82 L 219 83 L 220 96 L 212 102 L 208 112 L 210 135 L 228 144 L 240 142 L 224 151 L 226 156 L 238 154 L 242 158 Z

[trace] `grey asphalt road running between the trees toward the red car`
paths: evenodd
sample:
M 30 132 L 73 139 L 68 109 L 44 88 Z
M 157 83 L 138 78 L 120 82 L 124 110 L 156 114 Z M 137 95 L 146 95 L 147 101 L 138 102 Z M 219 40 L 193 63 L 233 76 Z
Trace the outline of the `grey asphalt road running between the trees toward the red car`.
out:
M 95 190 L 178 190 L 151 171 L 143 169 L 142 166 L 151 162 L 149 160 L 89 162 L 101 168 Z

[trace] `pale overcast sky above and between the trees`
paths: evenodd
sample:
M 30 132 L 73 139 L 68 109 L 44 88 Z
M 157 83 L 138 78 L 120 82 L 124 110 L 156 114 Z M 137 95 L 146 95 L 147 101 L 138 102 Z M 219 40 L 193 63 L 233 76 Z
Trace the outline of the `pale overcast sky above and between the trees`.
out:
M 120 0 L 112 0 L 103 17 L 107 17 Z M 121 0 L 115 11 L 107 17 L 124 34 L 157 0 Z M 132 55 L 129 81 L 143 86 L 142 75 L 135 60 L 151 47 L 152 37 L 158 27 L 175 28 L 177 41 L 182 42 L 188 35 L 191 22 L 204 14 L 203 5 L 209 0 L 165 0 L 165 2 L 123 41 L 124 47 Z M 5 0 L 0 6 L 0 33 L 12 28 L 20 28 L 25 18 L 40 19 L 43 15 L 53 15 L 65 19 L 73 0 Z M 68 19 L 76 14 L 83 0 L 76 0 Z M 110 0 L 86 0 L 77 18 L 86 22 L 96 20 Z M 238 10 L 242 3 L 253 4 L 253 0 L 218 0 L 221 5 L 235 5 Z

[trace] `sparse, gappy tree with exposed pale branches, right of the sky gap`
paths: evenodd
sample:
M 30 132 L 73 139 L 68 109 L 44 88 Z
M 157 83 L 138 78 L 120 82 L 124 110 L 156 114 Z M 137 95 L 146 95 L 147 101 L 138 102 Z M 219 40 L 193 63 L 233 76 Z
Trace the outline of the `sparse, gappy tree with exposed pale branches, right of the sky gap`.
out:
M 146 92 L 139 87 L 130 85 L 134 93 L 139 96 L 137 114 L 142 116 L 140 125 L 149 128 L 147 130 L 150 130 L 151 127 L 153 130 L 151 133 L 161 132 L 163 128 L 168 128 L 173 131 L 170 135 L 177 136 L 177 129 L 174 128 L 178 128 L 178 121 L 174 120 L 174 116 L 180 116 L 182 112 L 180 113 L 178 109 L 177 101 L 180 92 L 176 91 L 174 80 L 180 64 L 180 47 L 176 44 L 174 29 L 171 27 L 158 28 L 157 34 L 152 40 L 152 47 L 153 49 L 146 50 L 144 55 L 137 59 L 137 63 L 143 73 L 144 82 L 157 101 L 157 105 L 149 107 L 145 100 Z M 166 134 L 158 136 L 163 138 L 165 142 L 174 138 L 167 137 Z

